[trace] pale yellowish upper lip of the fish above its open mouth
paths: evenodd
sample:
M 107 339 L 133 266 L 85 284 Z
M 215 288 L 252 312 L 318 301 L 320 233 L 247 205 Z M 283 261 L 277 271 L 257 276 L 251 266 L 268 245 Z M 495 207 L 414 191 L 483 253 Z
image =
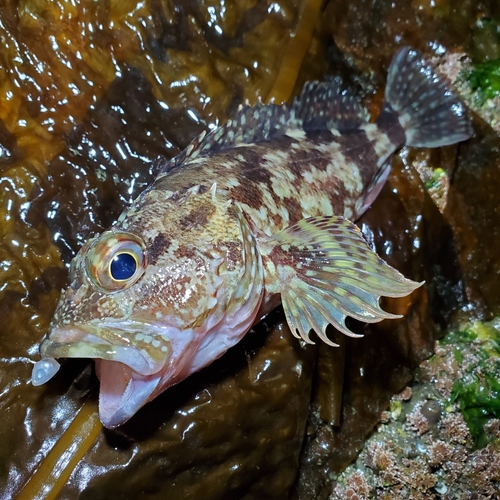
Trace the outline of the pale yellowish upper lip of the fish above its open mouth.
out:
M 42 358 L 91 358 L 117 361 L 140 375 L 159 372 L 168 361 L 171 349 L 153 357 L 144 349 L 118 345 L 102 339 L 92 327 L 53 328 L 42 341 Z

